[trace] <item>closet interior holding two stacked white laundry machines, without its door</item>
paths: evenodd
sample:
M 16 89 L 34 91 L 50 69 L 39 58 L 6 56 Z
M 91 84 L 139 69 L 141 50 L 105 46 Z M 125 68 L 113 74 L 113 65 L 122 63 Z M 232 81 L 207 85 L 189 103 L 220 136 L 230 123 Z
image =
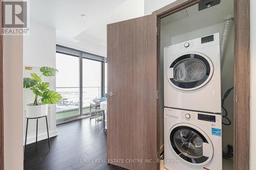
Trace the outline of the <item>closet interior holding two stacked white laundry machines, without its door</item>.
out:
M 160 20 L 161 151 L 180 159 L 165 168 L 233 169 L 233 36 L 233 0 Z

